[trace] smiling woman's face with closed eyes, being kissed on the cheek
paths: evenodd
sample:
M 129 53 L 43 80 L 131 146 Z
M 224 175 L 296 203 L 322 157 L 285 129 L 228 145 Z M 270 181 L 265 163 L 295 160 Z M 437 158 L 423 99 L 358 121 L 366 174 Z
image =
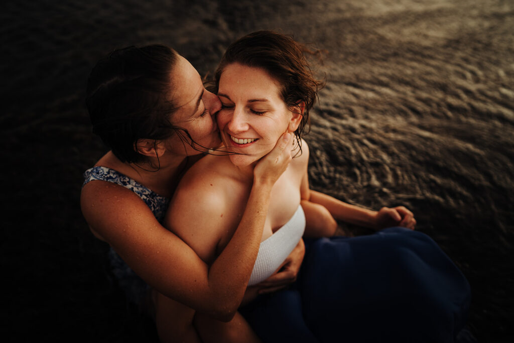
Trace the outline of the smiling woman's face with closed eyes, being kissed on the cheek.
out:
M 247 166 L 270 152 L 284 132 L 297 129 L 301 115 L 280 97 L 280 84 L 262 68 L 239 63 L 225 67 L 219 78 L 222 110 L 217 116 L 222 140 L 236 166 Z

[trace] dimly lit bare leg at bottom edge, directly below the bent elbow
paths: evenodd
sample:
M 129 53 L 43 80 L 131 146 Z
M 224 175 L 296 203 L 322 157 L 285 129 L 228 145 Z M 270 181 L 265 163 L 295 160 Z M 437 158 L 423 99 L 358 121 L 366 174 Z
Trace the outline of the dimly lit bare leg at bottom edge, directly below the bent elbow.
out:
M 194 327 L 204 343 L 261 343 L 243 316 L 237 312 L 229 322 L 196 313 Z

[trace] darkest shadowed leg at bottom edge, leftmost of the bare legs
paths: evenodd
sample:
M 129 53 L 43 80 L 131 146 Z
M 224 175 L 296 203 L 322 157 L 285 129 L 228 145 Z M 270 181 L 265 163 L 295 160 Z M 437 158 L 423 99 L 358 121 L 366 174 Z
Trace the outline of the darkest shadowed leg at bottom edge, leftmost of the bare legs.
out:
M 155 291 L 154 302 L 157 334 L 162 343 L 201 342 L 193 327 L 193 309 Z

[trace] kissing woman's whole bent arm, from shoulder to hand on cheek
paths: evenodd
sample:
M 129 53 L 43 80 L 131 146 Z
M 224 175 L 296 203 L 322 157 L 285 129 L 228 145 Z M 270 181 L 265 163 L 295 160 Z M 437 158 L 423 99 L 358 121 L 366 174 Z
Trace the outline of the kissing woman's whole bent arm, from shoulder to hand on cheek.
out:
M 156 291 L 213 318 L 236 313 L 262 237 L 274 182 L 291 159 L 290 135 L 254 170 L 254 184 L 240 224 L 209 267 L 174 233 L 161 226 L 132 191 L 94 181 L 84 186 L 81 207 L 88 224 Z

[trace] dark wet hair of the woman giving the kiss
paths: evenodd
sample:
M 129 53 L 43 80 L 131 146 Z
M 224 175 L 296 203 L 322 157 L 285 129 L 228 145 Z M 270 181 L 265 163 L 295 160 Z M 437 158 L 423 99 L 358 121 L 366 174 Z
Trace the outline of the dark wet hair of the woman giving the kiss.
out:
M 153 139 L 157 146 L 173 134 L 182 143 L 205 150 L 195 147 L 189 133 L 170 121 L 176 111 L 169 95 L 177 61 L 178 53 L 165 45 L 130 46 L 110 53 L 91 71 L 86 106 L 93 132 L 122 162 L 146 160 L 137 151 L 139 139 Z

